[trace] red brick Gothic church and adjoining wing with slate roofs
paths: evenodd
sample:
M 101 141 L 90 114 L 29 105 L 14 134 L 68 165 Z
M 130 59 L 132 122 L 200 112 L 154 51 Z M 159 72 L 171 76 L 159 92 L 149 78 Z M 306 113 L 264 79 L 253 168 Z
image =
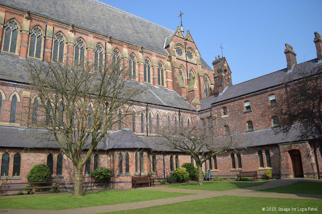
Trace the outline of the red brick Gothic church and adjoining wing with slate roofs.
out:
M 24 182 L 30 168 L 43 163 L 52 169 L 55 181 L 72 184 L 71 161 L 60 154 L 57 144 L 21 138 L 27 134 L 22 106 L 33 103 L 36 94 L 28 88 L 23 64 L 27 59 L 64 62 L 84 56 L 94 61 L 95 53 L 105 59 L 123 56 L 131 61 L 135 81 L 148 90 L 132 110 L 135 125 L 125 123 L 123 130 L 113 127 L 107 140 L 100 142 L 84 166 L 84 184 L 95 182 L 88 172 L 100 166 L 112 170 L 112 187 L 129 188 L 132 175 L 153 174 L 162 180 L 176 167 L 193 162 L 179 151 L 151 150 L 153 131 L 141 123 L 147 118 L 139 113 L 147 108 L 151 120 L 187 122 L 193 112 L 210 116 L 215 129 L 224 131 L 222 124 L 234 124 L 249 137 L 249 149 L 220 154 L 204 164 L 204 171 L 212 169 L 213 176 L 234 178 L 238 171 L 257 170 L 262 177 L 267 169 L 272 169 L 275 178 L 318 178 L 321 174 L 321 149 L 314 141 L 298 142 L 292 130 L 287 136 L 275 135 L 276 121 L 265 113 L 285 93 L 281 81 L 287 73 L 322 62 L 322 40 L 317 32 L 317 58 L 297 64 L 293 48 L 286 44 L 286 68 L 236 85 L 232 85 L 226 58 L 215 57 L 211 68 L 189 30 L 185 34 L 179 27 L 169 30 L 95 0 L 3 0 L 0 32 L 1 179 Z M 188 97 L 193 97 L 192 106 Z

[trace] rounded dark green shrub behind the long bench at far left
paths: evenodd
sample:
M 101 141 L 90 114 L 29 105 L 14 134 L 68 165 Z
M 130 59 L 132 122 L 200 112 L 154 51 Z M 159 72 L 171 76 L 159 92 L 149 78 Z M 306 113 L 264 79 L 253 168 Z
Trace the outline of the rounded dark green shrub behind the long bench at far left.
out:
M 27 180 L 28 182 L 46 182 L 50 181 L 51 175 L 52 173 L 47 165 L 37 164 L 30 169 Z

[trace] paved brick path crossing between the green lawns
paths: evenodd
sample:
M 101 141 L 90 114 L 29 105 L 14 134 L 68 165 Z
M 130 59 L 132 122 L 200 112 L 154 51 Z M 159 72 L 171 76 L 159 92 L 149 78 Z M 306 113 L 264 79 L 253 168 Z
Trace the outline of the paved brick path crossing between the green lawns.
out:
M 166 191 L 166 192 L 177 192 L 177 193 L 194 193 L 193 195 L 185 195 L 173 198 L 163 198 L 163 199 L 155 199 L 149 201 L 137 201 L 130 203 L 122 203 L 122 204 L 111 204 L 97 207 L 84 207 L 84 208 L 76 208 L 69 210 L 30 210 L 30 209 L 6 209 L 0 210 L 0 213 L 3 211 L 7 211 L 5 213 L 33 213 L 33 214 L 42 214 L 42 213 L 60 213 L 60 214 L 79 214 L 79 213 L 102 213 L 102 212 L 113 212 L 113 211 L 121 211 L 121 210 L 132 210 L 138 208 L 145 208 L 163 204 L 171 204 L 183 201 L 192 201 L 198 199 L 212 198 L 223 195 L 229 196 L 245 196 L 245 197 L 264 197 L 264 198 L 294 198 L 294 199 L 322 199 L 322 194 L 286 194 L 286 193 L 253 193 L 252 191 L 268 189 L 273 187 L 280 187 L 289 184 L 293 184 L 297 181 L 310 181 L 310 182 L 322 182 L 321 180 L 315 179 L 280 179 L 271 181 L 269 183 L 260 185 L 247 187 L 243 189 L 234 189 L 234 190 L 226 190 L 226 191 L 206 191 L 206 190 L 189 190 L 189 189 L 178 189 L 178 188 L 167 188 L 166 186 L 156 186 L 156 187 L 146 187 L 146 190 L 157 190 L 157 191 Z

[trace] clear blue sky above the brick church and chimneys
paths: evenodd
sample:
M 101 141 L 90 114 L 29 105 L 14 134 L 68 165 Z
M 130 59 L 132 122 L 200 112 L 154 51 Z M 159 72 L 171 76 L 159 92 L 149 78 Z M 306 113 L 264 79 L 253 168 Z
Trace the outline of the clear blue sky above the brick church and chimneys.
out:
M 204 60 L 226 57 L 233 84 L 286 68 L 285 43 L 299 62 L 316 58 L 314 31 L 322 34 L 322 1 L 119 1 L 103 2 L 175 30 L 183 25 Z

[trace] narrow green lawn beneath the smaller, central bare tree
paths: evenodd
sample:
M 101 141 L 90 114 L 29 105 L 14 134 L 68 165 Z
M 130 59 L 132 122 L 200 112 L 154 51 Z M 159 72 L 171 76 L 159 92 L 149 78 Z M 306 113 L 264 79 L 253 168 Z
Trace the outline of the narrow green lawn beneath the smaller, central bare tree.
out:
M 190 190 L 211 190 L 211 191 L 223 191 L 223 190 L 232 190 L 239 188 L 246 188 L 251 186 L 259 186 L 265 184 L 266 182 L 204 182 L 204 185 L 199 186 L 197 183 L 191 184 L 173 184 L 169 185 L 169 188 L 179 188 L 179 189 L 190 189 Z

